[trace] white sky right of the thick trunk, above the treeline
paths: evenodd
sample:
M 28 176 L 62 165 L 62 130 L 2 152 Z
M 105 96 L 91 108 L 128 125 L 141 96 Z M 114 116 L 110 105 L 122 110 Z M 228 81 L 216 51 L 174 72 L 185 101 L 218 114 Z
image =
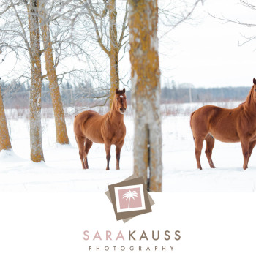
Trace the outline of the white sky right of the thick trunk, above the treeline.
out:
M 193 24 L 183 23 L 162 39 L 163 81 L 169 78 L 196 87 L 252 86 L 252 78 L 256 77 L 256 40 L 244 46 L 238 46 L 238 41 L 246 40 L 243 35 L 256 36 L 256 29 L 223 24 L 206 13 L 256 24 L 256 10 L 238 2 L 206 0 L 194 13 Z

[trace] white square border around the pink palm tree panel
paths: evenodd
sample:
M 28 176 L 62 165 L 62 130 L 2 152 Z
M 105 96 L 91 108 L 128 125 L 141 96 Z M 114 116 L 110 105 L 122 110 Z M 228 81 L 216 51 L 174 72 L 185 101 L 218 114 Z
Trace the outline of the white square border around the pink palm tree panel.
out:
M 137 189 L 140 188 L 140 196 L 141 196 L 141 204 L 142 206 L 140 207 L 135 207 L 135 208 L 125 208 L 121 209 L 120 204 L 119 204 L 119 195 L 118 191 L 121 189 Z M 125 186 L 125 187 L 115 187 L 115 196 L 116 196 L 116 211 L 119 212 L 127 212 L 127 211 L 139 211 L 139 210 L 145 210 L 145 197 L 144 197 L 144 190 L 143 190 L 143 184 L 140 185 L 131 185 L 131 186 Z

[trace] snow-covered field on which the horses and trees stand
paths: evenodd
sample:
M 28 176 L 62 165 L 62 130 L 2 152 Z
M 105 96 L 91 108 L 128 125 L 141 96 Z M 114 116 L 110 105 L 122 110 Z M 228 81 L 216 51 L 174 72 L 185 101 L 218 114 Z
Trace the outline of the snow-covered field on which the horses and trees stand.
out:
M 238 102 L 216 104 L 233 108 Z M 249 169 L 244 171 L 240 143 L 216 141 L 213 151 L 216 169 L 209 167 L 203 148 L 203 170 L 197 170 L 189 113 L 198 107 L 200 104 L 162 106 L 163 192 L 255 192 L 256 151 L 252 152 Z M 42 116 L 45 163 L 36 164 L 29 160 L 29 119 L 18 110 L 7 110 L 13 152 L 0 153 L 0 191 L 105 192 L 108 184 L 132 174 L 133 121 L 130 113 L 124 118 L 127 136 L 121 151 L 121 170 L 115 170 L 116 155 L 112 146 L 110 171 L 105 170 L 104 145 L 95 143 L 89 151 L 90 169 L 82 169 L 72 117 L 66 120 L 70 145 L 60 146 L 55 143 L 53 118 Z

